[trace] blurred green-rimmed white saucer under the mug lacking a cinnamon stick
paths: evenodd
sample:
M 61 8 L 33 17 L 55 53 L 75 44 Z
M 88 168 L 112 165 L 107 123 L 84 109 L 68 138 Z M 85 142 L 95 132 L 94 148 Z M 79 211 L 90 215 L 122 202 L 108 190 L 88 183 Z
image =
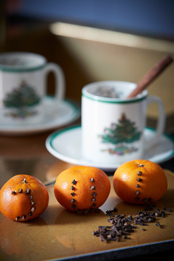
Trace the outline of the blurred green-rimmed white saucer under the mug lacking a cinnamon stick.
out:
M 26 125 L 0 124 L 0 134 L 25 135 L 49 131 L 69 124 L 80 116 L 78 106 L 72 101 L 62 100 L 57 104 L 54 97 L 46 96 L 43 104 L 45 113 L 43 122 Z

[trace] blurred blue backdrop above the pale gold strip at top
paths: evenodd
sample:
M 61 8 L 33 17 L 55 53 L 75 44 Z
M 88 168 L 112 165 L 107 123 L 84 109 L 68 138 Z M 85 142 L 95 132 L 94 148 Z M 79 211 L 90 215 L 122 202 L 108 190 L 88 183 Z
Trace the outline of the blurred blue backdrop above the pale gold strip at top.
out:
M 23 0 L 19 14 L 174 38 L 173 0 Z

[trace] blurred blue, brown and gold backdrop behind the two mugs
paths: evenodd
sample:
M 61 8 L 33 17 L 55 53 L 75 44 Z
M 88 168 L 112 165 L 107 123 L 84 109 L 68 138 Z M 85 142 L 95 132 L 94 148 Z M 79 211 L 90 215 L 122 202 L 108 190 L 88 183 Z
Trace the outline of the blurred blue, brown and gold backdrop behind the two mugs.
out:
M 27 51 L 56 62 L 66 76 L 66 96 L 80 103 L 93 81 L 137 82 L 166 53 L 174 54 L 174 2 L 170 0 L 1 0 L 0 51 Z M 173 132 L 171 65 L 148 88 L 163 99 L 166 132 Z M 54 77 L 48 77 L 54 93 Z M 154 127 L 158 110 L 147 111 Z

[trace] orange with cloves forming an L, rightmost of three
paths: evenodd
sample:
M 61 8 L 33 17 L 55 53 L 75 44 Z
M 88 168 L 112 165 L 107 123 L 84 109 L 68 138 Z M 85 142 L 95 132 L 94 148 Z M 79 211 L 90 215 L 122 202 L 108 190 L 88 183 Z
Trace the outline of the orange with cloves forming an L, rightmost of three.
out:
M 167 190 L 164 170 L 148 160 L 125 162 L 114 173 L 116 194 L 126 202 L 150 204 L 163 197 Z

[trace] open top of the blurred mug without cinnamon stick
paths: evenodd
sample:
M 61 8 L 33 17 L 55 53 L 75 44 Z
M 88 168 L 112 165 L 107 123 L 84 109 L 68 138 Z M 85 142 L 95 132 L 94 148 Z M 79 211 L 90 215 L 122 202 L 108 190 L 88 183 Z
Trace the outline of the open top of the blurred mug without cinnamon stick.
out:
M 45 65 L 46 58 L 30 52 L 4 52 L 0 54 L 0 69 L 28 70 Z

